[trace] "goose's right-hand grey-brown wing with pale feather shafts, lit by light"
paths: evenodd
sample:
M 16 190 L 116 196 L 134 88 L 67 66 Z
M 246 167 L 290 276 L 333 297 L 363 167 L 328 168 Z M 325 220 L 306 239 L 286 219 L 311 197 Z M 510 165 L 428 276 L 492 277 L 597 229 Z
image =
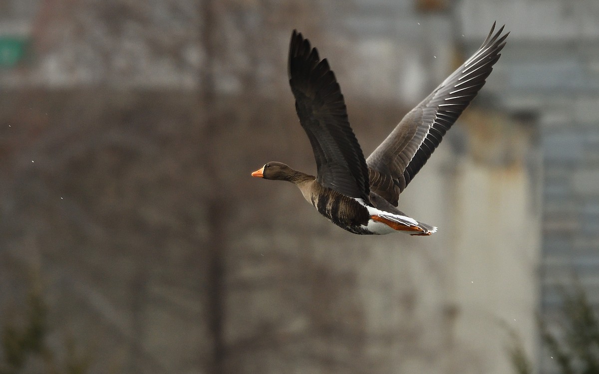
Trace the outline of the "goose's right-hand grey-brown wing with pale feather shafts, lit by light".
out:
M 368 156 L 371 190 L 397 206 L 400 193 L 431 157 L 443 135 L 470 104 L 501 54 L 507 34 L 495 23 L 480 48 L 408 112 L 389 136 Z

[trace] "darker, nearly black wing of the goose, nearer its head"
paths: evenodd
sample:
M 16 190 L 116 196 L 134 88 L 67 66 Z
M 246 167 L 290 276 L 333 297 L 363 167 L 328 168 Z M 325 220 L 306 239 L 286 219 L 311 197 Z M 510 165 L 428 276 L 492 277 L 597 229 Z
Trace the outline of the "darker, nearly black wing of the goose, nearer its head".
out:
M 316 180 L 368 201 L 370 184 L 364 154 L 347 120 L 343 95 L 326 59 L 295 30 L 289 45 L 289 84 L 299 122 L 310 139 Z

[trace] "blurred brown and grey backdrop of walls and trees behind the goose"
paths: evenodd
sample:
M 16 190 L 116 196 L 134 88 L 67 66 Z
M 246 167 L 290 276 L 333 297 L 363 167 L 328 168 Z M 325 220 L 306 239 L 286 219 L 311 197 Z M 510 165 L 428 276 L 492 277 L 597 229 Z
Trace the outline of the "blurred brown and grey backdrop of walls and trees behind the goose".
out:
M 315 172 L 293 29 L 370 154 L 495 20 L 400 198 L 435 235 L 250 177 Z M 0 372 L 557 373 L 560 287 L 599 303 L 598 99 L 594 0 L 2 0 Z

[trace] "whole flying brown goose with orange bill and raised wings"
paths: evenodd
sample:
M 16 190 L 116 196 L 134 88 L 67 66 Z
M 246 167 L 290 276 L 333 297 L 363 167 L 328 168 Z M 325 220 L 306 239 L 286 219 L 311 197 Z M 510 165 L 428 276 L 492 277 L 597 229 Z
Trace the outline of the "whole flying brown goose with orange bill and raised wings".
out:
M 299 122 L 310 139 L 317 177 L 280 162 L 269 162 L 253 177 L 297 185 L 308 202 L 337 226 L 358 234 L 407 231 L 430 235 L 437 228 L 408 217 L 396 207 L 400 193 L 441 142 L 491 74 L 507 34 L 494 34 L 412 111 L 364 158 L 347 119 L 335 75 L 326 59 L 296 31 L 289 45 L 289 84 Z

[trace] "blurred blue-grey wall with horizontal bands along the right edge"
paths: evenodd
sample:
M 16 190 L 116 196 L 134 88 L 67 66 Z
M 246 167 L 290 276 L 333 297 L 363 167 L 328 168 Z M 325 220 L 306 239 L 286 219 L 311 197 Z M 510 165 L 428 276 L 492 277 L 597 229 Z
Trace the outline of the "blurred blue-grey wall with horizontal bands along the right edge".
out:
M 578 278 L 592 303 L 597 293 L 599 219 L 599 7 L 595 1 L 462 1 L 465 34 L 492 19 L 513 33 L 489 80 L 506 111 L 537 118 L 542 150 L 541 315 L 561 324 L 558 285 Z M 541 372 L 555 367 L 546 351 Z

